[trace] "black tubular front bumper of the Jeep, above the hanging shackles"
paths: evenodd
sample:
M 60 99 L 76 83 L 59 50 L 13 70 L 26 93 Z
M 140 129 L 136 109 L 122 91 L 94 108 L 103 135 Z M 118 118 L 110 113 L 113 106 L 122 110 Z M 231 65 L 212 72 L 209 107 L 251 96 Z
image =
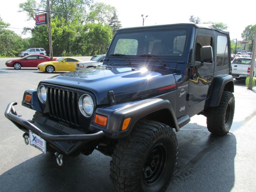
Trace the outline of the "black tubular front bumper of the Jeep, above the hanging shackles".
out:
M 28 134 L 29 130 L 46 140 L 48 144 L 51 145 L 52 148 L 55 148 L 59 152 L 63 154 L 69 155 L 77 150 L 80 147 L 84 146 L 89 141 L 100 139 L 104 136 L 103 131 L 99 131 L 92 134 L 49 134 L 47 132 L 42 131 L 40 128 L 31 123 L 31 121 L 26 121 L 17 115 L 14 105 L 17 102 L 11 102 L 8 104 L 4 115 L 8 118 L 12 123 L 14 123 L 20 130 L 26 132 Z M 67 143 L 63 145 L 63 142 L 71 142 L 71 146 Z M 66 147 L 65 147 L 66 146 Z

